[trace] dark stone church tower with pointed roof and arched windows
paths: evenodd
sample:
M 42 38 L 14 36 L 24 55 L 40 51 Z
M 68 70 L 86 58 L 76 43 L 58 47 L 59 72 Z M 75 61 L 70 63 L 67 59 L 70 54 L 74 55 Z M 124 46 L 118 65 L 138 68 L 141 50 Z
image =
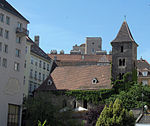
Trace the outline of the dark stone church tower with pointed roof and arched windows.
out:
M 137 47 L 128 24 L 123 22 L 112 45 L 112 78 L 122 79 L 127 72 L 133 72 L 137 68 Z

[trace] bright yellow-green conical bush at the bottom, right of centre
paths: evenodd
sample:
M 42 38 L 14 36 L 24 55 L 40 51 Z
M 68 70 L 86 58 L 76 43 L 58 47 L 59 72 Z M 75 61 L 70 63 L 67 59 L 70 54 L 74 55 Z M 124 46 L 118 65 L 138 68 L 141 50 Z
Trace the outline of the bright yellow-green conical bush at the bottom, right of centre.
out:
M 96 126 L 134 126 L 134 116 L 132 112 L 125 109 L 122 101 L 116 99 L 114 104 L 110 102 L 101 112 Z

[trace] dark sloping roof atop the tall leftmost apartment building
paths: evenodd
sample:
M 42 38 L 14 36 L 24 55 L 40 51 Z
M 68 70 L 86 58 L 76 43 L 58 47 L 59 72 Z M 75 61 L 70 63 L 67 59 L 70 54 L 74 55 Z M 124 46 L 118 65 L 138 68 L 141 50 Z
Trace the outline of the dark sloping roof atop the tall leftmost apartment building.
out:
M 29 21 L 25 17 L 23 17 L 14 7 L 12 7 L 6 0 L 0 0 L 0 8 L 29 23 Z

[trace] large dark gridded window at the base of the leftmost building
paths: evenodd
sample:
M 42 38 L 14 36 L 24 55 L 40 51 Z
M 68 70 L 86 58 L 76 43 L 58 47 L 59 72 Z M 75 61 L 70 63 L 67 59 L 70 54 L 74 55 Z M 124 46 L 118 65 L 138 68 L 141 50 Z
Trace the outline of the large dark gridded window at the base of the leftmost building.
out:
M 7 126 L 19 126 L 20 106 L 8 104 Z

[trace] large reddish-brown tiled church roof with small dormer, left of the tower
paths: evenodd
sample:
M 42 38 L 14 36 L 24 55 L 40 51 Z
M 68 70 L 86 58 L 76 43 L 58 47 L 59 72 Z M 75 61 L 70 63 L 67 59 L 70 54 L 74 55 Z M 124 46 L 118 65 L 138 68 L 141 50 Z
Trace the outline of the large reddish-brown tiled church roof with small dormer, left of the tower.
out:
M 49 76 L 49 79 L 52 77 L 53 83 L 58 90 L 109 89 L 111 88 L 110 69 L 110 65 L 56 67 L 51 76 Z M 92 84 L 93 79 L 97 79 L 98 82 L 96 84 Z M 47 80 L 42 85 L 46 85 Z

